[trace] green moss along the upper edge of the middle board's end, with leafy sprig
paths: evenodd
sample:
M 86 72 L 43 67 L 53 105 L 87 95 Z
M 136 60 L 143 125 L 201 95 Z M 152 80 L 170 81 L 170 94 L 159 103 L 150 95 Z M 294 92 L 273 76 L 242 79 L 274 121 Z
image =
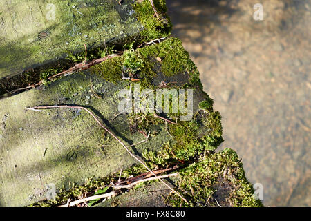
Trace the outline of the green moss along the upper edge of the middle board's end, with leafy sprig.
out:
M 160 58 L 160 61 L 156 58 Z M 121 57 L 108 59 L 93 67 L 93 71 L 106 80 L 115 82 L 122 78 L 122 68 L 128 70 L 131 75 L 138 73 L 142 88 L 153 88 L 153 77 L 156 77 L 159 71 L 164 75 L 173 76 L 187 70 L 191 73 L 191 79 L 198 77 L 198 70 L 189 59 L 188 52 L 182 47 L 181 41 L 173 37 L 160 44 L 137 50 L 125 50 Z M 196 84 L 196 81 L 192 83 Z M 188 86 L 193 86 L 193 84 L 188 84 Z

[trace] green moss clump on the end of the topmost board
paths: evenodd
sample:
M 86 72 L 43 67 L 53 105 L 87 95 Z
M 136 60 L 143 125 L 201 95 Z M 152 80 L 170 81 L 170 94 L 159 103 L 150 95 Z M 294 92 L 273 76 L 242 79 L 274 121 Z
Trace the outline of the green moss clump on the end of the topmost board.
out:
M 149 41 L 150 39 L 158 39 L 160 37 L 167 37 L 171 33 L 171 21 L 167 17 L 167 6 L 165 0 L 153 0 L 154 6 L 158 12 L 158 19 L 153 11 L 150 1 L 136 1 L 133 8 L 136 16 L 144 30 L 142 31 L 142 41 Z

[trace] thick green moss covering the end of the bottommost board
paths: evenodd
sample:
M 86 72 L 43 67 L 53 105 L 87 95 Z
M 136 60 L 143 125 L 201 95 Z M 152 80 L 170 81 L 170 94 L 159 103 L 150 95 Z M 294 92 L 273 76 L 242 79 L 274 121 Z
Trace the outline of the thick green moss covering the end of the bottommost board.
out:
M 241 160 L 236 152 L 228 148 L 208 155 L 180 171 L 178 190 L 189 204 L 183 203 L 174 194 L 169 196 L 167 202 L 171 206 L 212 206 L 208 201 L 210 198 L 210 201 L 216 198 L 213 194 L 218 191 L 216 184 L 220 180 L 232 188 L 226 199 L 230 206 L 262 206 L 261 202 L 254 198 L 254 189 L 245 178 Z

